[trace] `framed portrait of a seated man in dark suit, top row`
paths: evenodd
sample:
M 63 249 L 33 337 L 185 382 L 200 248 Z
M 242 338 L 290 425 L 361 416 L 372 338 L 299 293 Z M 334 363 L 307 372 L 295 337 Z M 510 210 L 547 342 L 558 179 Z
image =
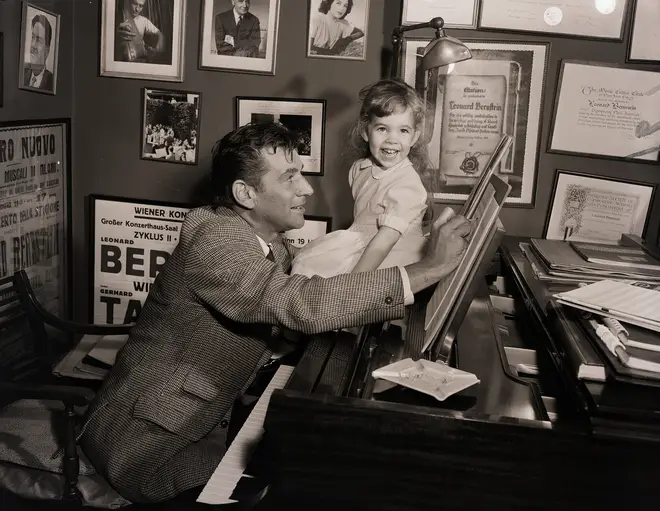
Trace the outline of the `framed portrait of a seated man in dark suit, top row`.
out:
M 275 74 L 280 0 L 204 0 L 200 69 Z

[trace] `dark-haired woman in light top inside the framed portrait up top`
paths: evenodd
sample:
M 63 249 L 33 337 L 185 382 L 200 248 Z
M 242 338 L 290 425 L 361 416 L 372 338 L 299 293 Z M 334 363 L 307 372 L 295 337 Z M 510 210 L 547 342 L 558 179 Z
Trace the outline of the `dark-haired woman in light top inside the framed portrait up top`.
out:
M 353 9 L 353 0 L 322 0 L 319 12 L 312 17 L 309 30 L 310 51 L 317 55 L 340 55 L 346 47 L 364 37 L 364 32 L 345 18 Z

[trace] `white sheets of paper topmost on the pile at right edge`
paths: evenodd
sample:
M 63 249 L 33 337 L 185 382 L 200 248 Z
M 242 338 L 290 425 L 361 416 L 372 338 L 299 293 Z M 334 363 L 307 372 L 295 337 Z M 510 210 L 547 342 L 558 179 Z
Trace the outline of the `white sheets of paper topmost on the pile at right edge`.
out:
M 555 294 L 559 303 L 660 332 L 660 286 L 601 280 Z

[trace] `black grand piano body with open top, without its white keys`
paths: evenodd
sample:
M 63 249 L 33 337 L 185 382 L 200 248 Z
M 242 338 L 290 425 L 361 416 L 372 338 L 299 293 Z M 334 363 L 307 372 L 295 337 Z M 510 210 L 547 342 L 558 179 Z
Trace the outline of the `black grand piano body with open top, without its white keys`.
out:
M 624 509 L 660 501 L 660 389 L 578 380 L 551 294 L 505 237 L 482 268 L 448 363 L 480 383 L 445 401 L 371 372 L 394 324 L 314 336 L 264 422 L 277 508 Z M 602 507 L 601 507 L 602 506 Z

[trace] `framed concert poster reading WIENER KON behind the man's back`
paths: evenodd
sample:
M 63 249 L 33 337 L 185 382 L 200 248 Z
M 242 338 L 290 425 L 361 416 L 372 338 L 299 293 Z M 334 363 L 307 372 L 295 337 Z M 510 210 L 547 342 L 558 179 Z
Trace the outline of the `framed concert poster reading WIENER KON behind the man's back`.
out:
M 191 208 L 104 195 L 90 195 L 89 200 L 89 321 L 132 323 L 179 243 L 181 225 Z

